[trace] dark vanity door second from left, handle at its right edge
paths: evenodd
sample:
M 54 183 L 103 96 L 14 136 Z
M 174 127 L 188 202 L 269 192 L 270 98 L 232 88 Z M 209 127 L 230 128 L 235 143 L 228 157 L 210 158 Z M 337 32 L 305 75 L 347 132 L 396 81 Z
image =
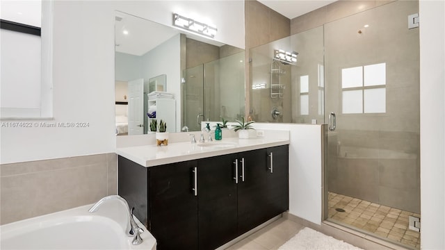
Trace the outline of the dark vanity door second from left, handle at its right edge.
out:
M 216 249 L 237 236 L 235 158 L 225 155 L 198 160 L 200 250 Z

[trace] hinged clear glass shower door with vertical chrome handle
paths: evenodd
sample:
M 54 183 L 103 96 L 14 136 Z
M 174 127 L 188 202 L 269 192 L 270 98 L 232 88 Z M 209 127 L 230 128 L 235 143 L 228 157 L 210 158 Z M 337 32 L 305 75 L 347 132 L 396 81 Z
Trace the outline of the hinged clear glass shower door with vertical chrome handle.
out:
M 419 28 L 407 26 L 417 12 L 395 1 L 325 24 L 325 215 L 410 247 L 420 245 L 408 226 L 420 217 Z

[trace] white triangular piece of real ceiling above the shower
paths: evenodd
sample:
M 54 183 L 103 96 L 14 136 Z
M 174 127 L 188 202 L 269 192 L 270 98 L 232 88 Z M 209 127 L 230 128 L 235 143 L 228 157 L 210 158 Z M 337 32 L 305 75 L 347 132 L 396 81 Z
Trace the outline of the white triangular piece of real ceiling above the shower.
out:
M 258 0 L 265 6 L 279 12 L 284 17 L 293 19 L 307 12 L 333 3 L 335 0 Z

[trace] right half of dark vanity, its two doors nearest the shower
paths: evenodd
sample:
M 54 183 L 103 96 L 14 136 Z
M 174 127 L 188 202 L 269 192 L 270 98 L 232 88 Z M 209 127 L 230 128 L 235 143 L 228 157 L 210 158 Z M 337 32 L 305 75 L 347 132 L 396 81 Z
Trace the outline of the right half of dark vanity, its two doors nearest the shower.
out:
M 238 235 L 289 210 L 289 147 L 243 153 L 238 180 Z M 240 175 L 240 176 L 241 176 Z

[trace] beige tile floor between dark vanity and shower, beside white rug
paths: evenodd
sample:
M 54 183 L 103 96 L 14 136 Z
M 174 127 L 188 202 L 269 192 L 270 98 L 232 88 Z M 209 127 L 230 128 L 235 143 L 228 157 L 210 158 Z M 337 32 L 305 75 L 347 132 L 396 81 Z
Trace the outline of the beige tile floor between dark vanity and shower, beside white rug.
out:
M 227 250 L 275 250 L 291 240 L 302 228 L 305 228 L 305 226 L 282 217 L 248 236 L 248 238 L 228 247 Z

